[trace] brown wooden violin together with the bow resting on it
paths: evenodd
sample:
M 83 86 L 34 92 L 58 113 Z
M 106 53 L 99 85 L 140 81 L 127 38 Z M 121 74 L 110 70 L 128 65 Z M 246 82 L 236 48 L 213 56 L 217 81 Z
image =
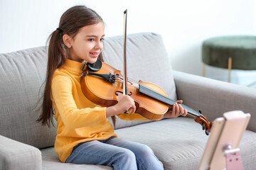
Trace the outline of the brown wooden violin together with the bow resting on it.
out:
M 127 13 L 127 10 L 124 13 Z M 127 78 L 125 46 L 126 29 L 124 32 L 124 76 L 119 70 L 100 60 L 93 64 L 86 63 L 82 68 L 81 75 L 82 93 L 90 101 L 103 107 L 117 104 L 117 98 L 120 94 L 129 95 L 134 99 L 135 113 L 139 113 L 149 120 L 161 120 L 164 118 L 164 114 L 171 110 L 176 101 L 168 98 L 164 89 L 156 84 L 141 80 L 136 82 Z M 188 115 L 193 116 L 196 123 L 199 123 L 205 130 L 206 135 L 209 135 L 213 121 L 209 123 L 206 116 L 201 114 L 201 111 L 195 111 L 182 103 L 181 106 L 186 108 Z

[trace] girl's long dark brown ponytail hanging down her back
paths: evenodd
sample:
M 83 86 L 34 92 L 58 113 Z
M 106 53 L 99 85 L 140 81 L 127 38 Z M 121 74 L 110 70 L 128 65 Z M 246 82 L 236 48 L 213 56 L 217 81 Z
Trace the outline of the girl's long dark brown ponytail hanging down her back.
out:
M 48 47 L 48 65 L 46 71 L 46 86 L 43 91 L 43 104 L 42 104 L 42 113 L 38 118 L 38 122 L 41 122 L 42 125 L 53 124 L 53 103 L 50 100 L 50 86 L 51 80 L 53 78 L 53 73 L 55 69 L 60 67 L 65 62 L 65 46 L 63 44 L 63 30 L 58 28 L 55 30 L 50 37 L 48 38 L 49 47 Z

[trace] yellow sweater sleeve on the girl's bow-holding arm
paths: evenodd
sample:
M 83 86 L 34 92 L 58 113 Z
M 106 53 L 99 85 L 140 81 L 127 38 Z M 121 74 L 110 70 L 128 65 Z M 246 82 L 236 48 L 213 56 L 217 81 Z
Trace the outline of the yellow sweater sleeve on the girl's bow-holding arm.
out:
M 51 84 L 51 98 L 56 112 L 59 113 L 61 120 L 67 128 L 82 128 L 88 125 L 99 123 L 106 120 L 106 108 L 82 108 L 78 109 L 74 98 L 73 86 L 70 78 L 63 75 L 53 77 Z

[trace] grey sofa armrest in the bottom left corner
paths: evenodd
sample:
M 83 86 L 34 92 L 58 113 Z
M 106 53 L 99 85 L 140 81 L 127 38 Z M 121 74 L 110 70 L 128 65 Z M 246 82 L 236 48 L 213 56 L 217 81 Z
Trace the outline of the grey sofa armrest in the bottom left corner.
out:
M 0 169 L 41 170 L 41 151 L 0 135 Z

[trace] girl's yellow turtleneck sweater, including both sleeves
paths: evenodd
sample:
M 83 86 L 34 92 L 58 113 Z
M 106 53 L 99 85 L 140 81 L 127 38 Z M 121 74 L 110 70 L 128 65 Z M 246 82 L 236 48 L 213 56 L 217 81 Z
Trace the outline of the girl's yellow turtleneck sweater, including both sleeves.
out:
M 65 162 L 80 142 L 117 137 L 106 118 L 106 108 L 95 105 L 82 94 L 81 68 L 82 63 L 66 60 L 55 70 L 51 83 L 50 98 L 57 120 L 55 151 L 61 162 Z M 123 120 L 147 120 L 137 113 L 117 116 Z

